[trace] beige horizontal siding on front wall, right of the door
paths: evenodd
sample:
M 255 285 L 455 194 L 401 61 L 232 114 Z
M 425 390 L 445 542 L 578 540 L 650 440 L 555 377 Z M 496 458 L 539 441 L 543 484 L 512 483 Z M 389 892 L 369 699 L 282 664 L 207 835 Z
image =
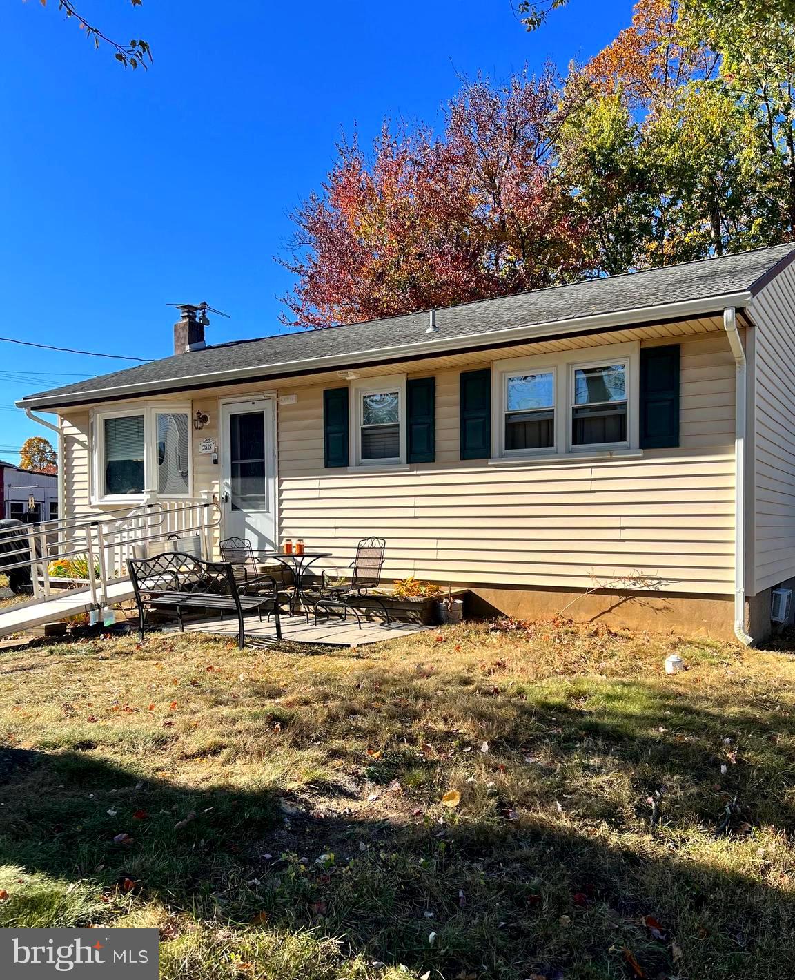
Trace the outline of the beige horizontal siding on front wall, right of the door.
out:
M 339 566 L 359 537 L 383 536 L 388 577 L 561 588 L 640 578 L 654 590 L 729 593 L 733 361 L 720 334 L 683 338 L 681 354 L 680 447 L 642 459 L 460 461 L 459 371 L 446 369 L 434 372 L 435 463 L 324 469 L 323 387 L 280 389 L 298 395 L 279 409 L 283 536 L 333 551 Z M 477 358 L 462 367 L 489 366 Z

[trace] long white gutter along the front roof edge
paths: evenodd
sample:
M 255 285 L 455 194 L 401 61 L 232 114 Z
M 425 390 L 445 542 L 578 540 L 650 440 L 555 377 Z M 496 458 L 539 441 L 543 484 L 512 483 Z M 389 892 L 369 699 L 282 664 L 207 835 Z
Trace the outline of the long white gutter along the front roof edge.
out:
M 541 323 L 525 323 L 520 326 L 512 326 L 504 330 L 489 330 L 482 333 L 463 335 L 457 334 L 452 337 L 444 336 L 444 318 L 441 316 L 444 311 L 437 311 L 437 332 L 433 335 L 433 339 L 430 340 L 425 339 L 426 331 L 423 330 L 423 339 L 415 343 L 396 344 L 392 347 L 376 347 L 370 348 L 369 350 L 325 357 L 304 358 L 300 361 L 285 361 L 279 364 L 255 365 L 251 368 L 227 368 L 226 370 L 206 371 L 202 374 L 179 375 L 177 377 L 162 378 L 158 381 L 114 384 L 107 388 L 94 388 L 91 391 L 74 392 L 71 397 L 77 399 L 76 402 L 70 402 L 68 400 L 70 398 L 69 395 L 53 395 L 41 399 L 37 399 L 35 396 L 23 398 L 16 404 L 20 408 L 28 405 L 35 408 L 39 402 L 47 406 L 53 404 L 60 406 L 79 405 L 88 402 L 101 402 L 103 396 L 111 392 L 113 392 L 115 397 L 117 395 L 130 396 L 135 394 L 149 394 L 160 391 L 163 388 L 172 388 L 177 384 L 180 388 L 191 388 L 201 387 L 203 383 L 207 382 L 212 382 L 217 385 L 223 381 L 245 381 L 249 377 L 261 376 L 267 372 L 270 372 L 267 374 L 267 377 L 270 378 L 274 374 L 278 374 L 279 376 L 292 376 L 294 374 L 303 374 L 310 370 L 350 368 L 361 361 L 374 360 L 381 362 L 399 358 L 400 356 L 432 356 L 461 347 L 490 347 L 493 344 L 501 344 L 511 340 L 517 342 L 531 341 L 545 337 L 550 333 L 581 333 L 586 330 L 609 330 L 612 327 L 631 326 L 634 323 L 655 322 L 656 320 L 662 319 L 691 319 L 702 317 L 706 314 L 714 314 L 716 311 L 722 310 L 727 306 L 745 307 L 748 306 L 751 300 L 752 294 L 748 290 L 743 290 L 737 293 L 727 293 L 723 296 L 708 296 L 697 300 L 663 303 L 650 307 L 635 307 L 631 310 L 593 314 L 588 317 L 551 319 Z M 488 321 L 488 312 L 484 313 L 484 319 Z M 351 329 L 354 327 L 355 324 L 351 324 Z M 346 329 L 346 327 L 334 327 L 334 329 Z M 208 350 L 211 352 L 212 348 L 210 347 Z

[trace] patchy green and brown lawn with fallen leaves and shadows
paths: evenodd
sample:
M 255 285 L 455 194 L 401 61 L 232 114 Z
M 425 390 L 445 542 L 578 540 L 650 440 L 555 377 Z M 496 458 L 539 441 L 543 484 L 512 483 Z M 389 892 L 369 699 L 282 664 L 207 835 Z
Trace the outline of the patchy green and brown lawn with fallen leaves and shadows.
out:
M 42 646 L 0 655 L 0 743 L 0 926 L 155 925 L 169 980 L 794 968 L 786 653 L 549 624 Z

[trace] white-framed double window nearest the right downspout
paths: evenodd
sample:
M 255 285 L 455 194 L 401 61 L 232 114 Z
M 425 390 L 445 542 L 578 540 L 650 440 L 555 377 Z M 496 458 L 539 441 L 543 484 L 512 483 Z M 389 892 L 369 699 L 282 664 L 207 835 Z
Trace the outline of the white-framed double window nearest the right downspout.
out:
M 636 342 L 493 366 L 495 455 L 563 457 L 638 445 Z

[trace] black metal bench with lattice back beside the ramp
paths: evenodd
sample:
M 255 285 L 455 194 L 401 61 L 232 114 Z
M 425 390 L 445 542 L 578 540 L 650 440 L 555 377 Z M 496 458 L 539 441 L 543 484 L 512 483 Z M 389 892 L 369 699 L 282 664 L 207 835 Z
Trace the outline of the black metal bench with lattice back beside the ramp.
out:
M 242 594 L 241 589 L 245 589 L 245 586 L 235 580 L 232 564 L 204 562 L 179 552 L 149 559 L 127 559 L 127 571 L 135 593 L 138 630 L 142 640 L 147 611 L 175 610 L 179 628 L 184 632 L 183 610 L 204 609 L 219 612 L 221 617 L 224 612 L 237 614 L 238 646 L 243 650 L 246 639 L 244 613 L 257 611 L 261 622 L 265 607 L 269 613 L 273 613 L 277 639 L 282 638 L 279 600 L 272 579 L 269 587 L 264 580 L 258 582 L 260 591 L 256 594 Z

